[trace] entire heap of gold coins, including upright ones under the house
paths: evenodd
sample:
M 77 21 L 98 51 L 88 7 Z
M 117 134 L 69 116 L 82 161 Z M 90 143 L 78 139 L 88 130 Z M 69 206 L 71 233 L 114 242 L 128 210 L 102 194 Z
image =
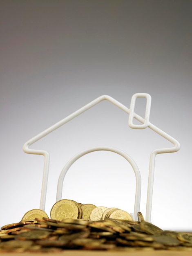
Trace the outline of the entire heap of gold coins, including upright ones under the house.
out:
M 165 231 L 138 221 L 117 208 L 96 207 L 63 199 L 51 208 L 50 218 L 39 209 L 0 230 L 0 252 L 60 252 L 84 250 L 191 250 L 192 234 Z

